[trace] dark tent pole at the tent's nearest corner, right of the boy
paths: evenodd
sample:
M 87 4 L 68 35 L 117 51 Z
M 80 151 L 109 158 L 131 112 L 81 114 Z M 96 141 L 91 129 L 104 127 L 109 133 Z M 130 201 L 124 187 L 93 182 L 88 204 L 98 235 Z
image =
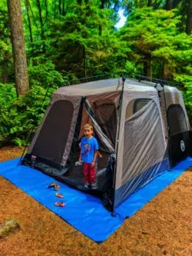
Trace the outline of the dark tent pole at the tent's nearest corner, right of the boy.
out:
M 119 122 L 118 122 L 118 141 L 117 141 L 117 150 L 116 150 L 116 162 L 115 162 L 115 167 L 114 167 L 114 177 L 113 177 L 113 190 L 112 190 L 112 216 L 115 216 L 114 214 L 114 195 L 115 195 L 115 185 L 116 185 L 116 174 L 117 174 L 117 162 L 118 162 L 118 148 L 119 148 L 119 135 L 120 135 L 120 125 L 121 125 L 121 110 L 122 110 L 122 102 L 123 102 L 123 95 L 124 95 L 124 81 L 126 80 L 126 78 L 124 77 L 124 75 L 122 75 L 122 81 L 123 81 L 123 85 L 122 85 L 122 90 L 121 90 L 121 96 L 120 96 L 120 111 L 119 111 Z

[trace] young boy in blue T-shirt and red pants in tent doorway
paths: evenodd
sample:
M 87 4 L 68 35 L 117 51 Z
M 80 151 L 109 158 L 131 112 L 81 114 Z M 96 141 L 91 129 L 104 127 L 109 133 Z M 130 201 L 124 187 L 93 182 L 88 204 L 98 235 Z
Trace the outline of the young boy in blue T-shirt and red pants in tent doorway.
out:
M 80 142 L 81 153 L 79 161 L 83 161 L 84 187 L 97 189 L 95 165 L 98 156 L 98 141 L 93 136 L 93 126 L 84 125 L 84 137 Z

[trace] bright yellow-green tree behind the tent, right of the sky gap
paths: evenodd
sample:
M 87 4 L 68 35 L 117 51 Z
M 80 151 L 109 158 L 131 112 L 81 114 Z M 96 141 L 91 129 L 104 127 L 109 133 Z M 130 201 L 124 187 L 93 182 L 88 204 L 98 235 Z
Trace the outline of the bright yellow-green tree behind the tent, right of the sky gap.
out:
M 132 50 L 127 59 L 143 68 L 142 73 L 147 77 L 151 77 L 154 68 L 156 76 L 170 78 L 176 65 L 172 54 L 177 46 L 174 37 L 179 24 L 180 19 L 174 11 L 135 9 L 120 31 L 121 39 Z

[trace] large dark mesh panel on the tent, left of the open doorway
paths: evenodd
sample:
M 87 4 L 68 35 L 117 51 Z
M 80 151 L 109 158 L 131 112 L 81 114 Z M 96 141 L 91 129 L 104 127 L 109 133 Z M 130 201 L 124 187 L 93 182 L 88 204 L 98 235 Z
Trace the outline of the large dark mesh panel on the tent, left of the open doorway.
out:
M 70 101 L 56 101 L 48 112 L 31 155 L 61 164 L 74 107 Z

